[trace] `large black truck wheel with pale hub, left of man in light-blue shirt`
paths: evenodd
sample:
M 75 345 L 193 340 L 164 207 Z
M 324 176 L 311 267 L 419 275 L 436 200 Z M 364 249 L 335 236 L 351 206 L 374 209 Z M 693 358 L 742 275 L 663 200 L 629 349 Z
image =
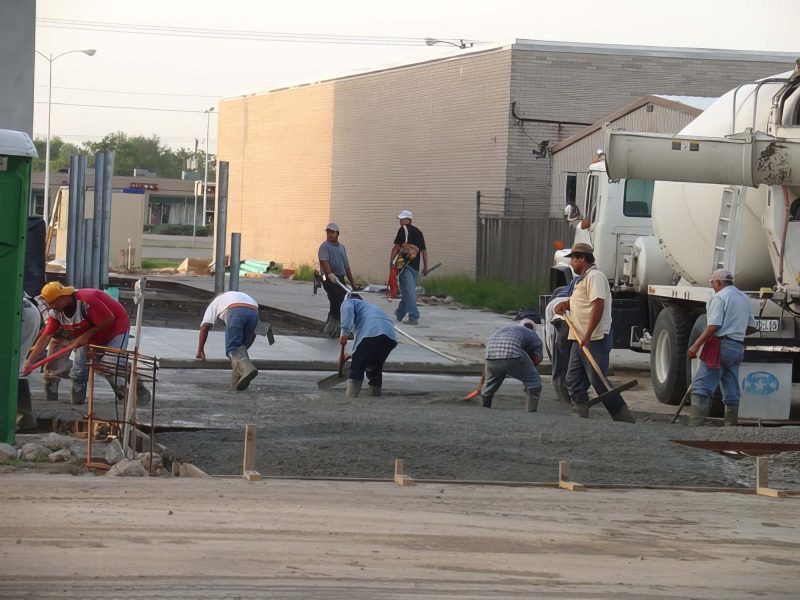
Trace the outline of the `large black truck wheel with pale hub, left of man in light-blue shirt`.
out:
M 677 306 L 667 306 L 653 327 L 650 375 L 653 391 L 663 404 L 679 404 L 688 387 L 686 349 L 692 319 Z

